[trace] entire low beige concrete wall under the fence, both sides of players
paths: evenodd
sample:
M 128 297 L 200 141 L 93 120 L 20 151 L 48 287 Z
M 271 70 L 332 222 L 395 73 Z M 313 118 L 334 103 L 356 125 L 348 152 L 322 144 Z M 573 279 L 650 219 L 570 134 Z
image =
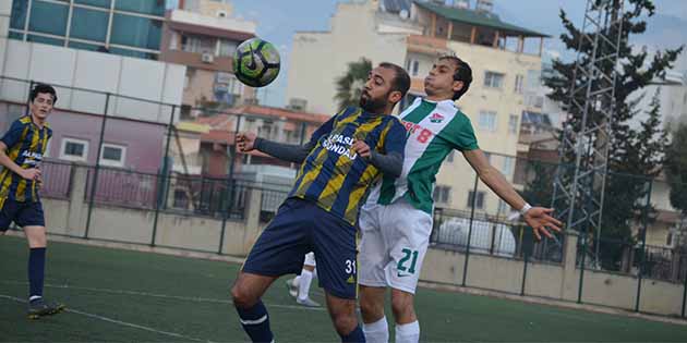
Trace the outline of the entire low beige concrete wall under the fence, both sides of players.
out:
M 44 199 L 51 233 L 84 236 L 88 212 L 84 201 L 86 169 L 73 168 L 70 199 Z M 262 193 L 253 189 L 246 199 L 245 219 L 228 221 L 221 253 L 245 256 L 263 230 L 260 222 Z M 88 237 L 150 244 L 155 212 L 134 208 L 98 205 L 93 210 Z M 160 212 L 155 243 L 203 252 L 218 252 L 221 221 L 213 218 L 190 217 Z M 580 270 L 575 266 L 577 236 L 565 240 L 564 261 L 561 265 L 530 262 L 527 266 L 525 294 L 545 298 L 576 302 Z M 421 271 L 421 280 L 441 284 L 462 285 L 466 255 L 460 252 L 430 247 Z M 485 290 L 520 294 L 525 264 L 522 260 L 470 254 L 467 285 Z M 586 270 L 582 302 L 634 310 L 638 279 L 630 275 Z M 682 310 L 683 284 L 643 280 L 640 310 L 677 315 Z

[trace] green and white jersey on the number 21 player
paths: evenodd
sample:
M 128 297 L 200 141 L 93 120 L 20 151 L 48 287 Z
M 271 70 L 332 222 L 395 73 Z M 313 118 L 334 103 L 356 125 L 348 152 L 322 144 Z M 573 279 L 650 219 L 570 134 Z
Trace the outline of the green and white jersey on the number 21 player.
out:
M 399 114 L 408 142 L 403 171 L 397 179 L 384 176 L 367 197 L 367 204 L 389 205 L 403 197 L 417 209 L 432 213 L 434 182 L 442 162 L 453 149 L 478 149 L 470 119 L 453 100 L 418 98 Z

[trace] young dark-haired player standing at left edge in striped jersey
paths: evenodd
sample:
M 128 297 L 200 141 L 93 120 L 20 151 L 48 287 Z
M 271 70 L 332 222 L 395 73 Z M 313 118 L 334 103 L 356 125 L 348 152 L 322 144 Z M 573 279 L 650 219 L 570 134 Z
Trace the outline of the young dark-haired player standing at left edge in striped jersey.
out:
M 64 309 L 43 298 L 46 262 L 46 223 L 38 196 L 40 162 L 52 130 L 46 122 L 57 102 L 49 85 L 38 84 L 29 95 L 29 113 L 12 123 L 0 138 L 0 232 L 12 221 L 24 229 L 28 241 L 28 318 L 37 319 Z

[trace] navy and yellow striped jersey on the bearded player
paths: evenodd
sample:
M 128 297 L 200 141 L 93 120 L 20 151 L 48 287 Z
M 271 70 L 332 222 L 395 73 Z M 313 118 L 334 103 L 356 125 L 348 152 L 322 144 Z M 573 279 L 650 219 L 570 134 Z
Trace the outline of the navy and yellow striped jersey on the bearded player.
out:
M 317 204 L 351 225 L 365 203 L 379 170 L 351 149 L 364 140 L 379 154 L 403 155 L 406 130 L 395 115 L 372 114 L 360 108 L 347 108 L 317 128 L 311 137 L 314 148 L 296 176 L 290 197 Z

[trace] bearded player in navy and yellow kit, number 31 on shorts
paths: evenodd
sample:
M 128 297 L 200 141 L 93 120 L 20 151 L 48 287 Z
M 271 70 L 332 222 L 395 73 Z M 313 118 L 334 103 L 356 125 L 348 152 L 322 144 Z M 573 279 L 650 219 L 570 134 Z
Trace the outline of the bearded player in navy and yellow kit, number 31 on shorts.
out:
M 289 197 L 260 236 L 231 290 L 241 324 L 253 342 L 270 342 L 267 310 L 260 299 L 280 275 L 298 273 L 303 256 L 317 256 L 320 284 L 342 342 L 364 342 L 355 314 L 355 224 L 381 174 L 400 175 L 406 130 L 389 115 L 410 87 L 398 65 L 372 70 L 360 108 L 348 108 L 313 133 L 304 146 L 238 137 L 241 151 L 258 149 L 302 163 Z

